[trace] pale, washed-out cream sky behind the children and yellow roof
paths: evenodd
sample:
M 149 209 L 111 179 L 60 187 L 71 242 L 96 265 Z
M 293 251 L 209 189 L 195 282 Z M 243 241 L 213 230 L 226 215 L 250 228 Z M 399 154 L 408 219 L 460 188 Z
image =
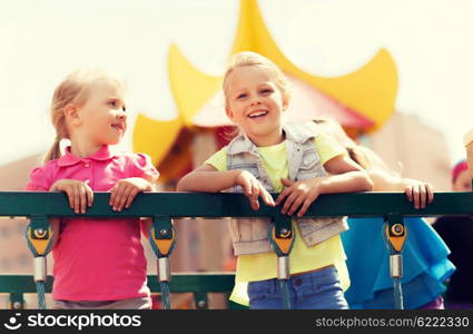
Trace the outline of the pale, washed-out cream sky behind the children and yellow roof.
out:
M 397 110 L 444 134 L 450 148 L 445 158 L 464 156 L 462 138 L 473 129 L 473 1 L 258 3 L 283 52 L 313 75 L 352 72 L 386 48 L 398 70 Z M 169 45 L 177 43 L 201 71 L 221 75 L 238 8 L 236 0 L 2 0 L 0 164 L 49 147 L 52 90 L 80 66 L 120 71 L 128 81 L 131 110 L 174 118 L 166 68 Z

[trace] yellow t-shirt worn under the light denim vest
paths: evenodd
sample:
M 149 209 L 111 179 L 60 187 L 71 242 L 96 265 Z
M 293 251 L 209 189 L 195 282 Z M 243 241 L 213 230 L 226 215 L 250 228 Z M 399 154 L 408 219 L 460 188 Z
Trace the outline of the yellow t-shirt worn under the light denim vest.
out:
M 324 165 L 329 159 L 346 154 L 346 150 L 332 137 L 318 134 L 315 145 Z M 289 168 L 286 155 L 286 143 L 258 147 L 258 153 L 263 159 L 268 176 L 273 183 L 275 191 L 284 189 L 280 178 L 288 178 Z M 205 164 L 215 167 L 217 170 L 227 170 L 227 150 L 220 149 L 208 158 Z M 294 247 L 289 254 L 290 274 L 314 271 L 324 266 L 334 265 L 337 268 L 341 284 L 344 291 L 349 286 L 348 272 L 345 265 L 345 252 L 343 249 L 339 235 L 334 236 L 321 244 L 307 247 L 302 240 L 297 224 L 295 226 Z M 236 285 L 230 299 L 240 304 L 248 304 L 246 294 L 246 283 L 277 277 L 277 256 L 274 252 L 240 255 L 237 259 Z

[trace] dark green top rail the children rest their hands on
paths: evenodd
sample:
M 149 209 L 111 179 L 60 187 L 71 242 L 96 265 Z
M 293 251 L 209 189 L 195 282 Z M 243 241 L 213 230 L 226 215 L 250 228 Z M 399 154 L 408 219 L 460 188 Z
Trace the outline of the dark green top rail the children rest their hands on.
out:
M 276 196 L 277 194 L 273 194 Z M 93 206 L 76 215 L 62 193 L 0 191 L 0 216 L 86 217 L 280 217 L 280 208 L 262 205 L 253 210 L 242 194 L 154 193 L 139 194 L 130 208 L 116 213 L 108 205 L 109 193 L 95 193 Z M 473 193 L 435 193 L 434 202 L 415 209 L 403 193 L 358 193 L 322 195 L 305 217 L 385 217 L 467 215 L 473 213 Z

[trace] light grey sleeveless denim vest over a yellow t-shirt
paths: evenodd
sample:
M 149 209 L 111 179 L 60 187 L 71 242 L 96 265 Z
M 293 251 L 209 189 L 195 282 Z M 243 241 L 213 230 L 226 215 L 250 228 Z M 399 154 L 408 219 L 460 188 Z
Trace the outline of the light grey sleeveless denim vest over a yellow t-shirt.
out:
M 286 154 L 289 179 L 293 181 L 326 176 L 318 151 L 315 147 L 317 126 L 314 122 L 285 124 Z M 252 173 L 268 191 L 274 191 L 268 174 L 257 147 L 246 135 L 239 135 L 227 147 L 227 169 L 244 169 Z M 229 189 L 242 193 L 242 187 Z M 298 226 L 302 239 L 311 247 L 348 229 L 344 217 L 317 219 L 293 219 Z M 267 238 L 268 218 L 238 218 L 230 220 L 230 235 L 235 255 L 272 252 Z

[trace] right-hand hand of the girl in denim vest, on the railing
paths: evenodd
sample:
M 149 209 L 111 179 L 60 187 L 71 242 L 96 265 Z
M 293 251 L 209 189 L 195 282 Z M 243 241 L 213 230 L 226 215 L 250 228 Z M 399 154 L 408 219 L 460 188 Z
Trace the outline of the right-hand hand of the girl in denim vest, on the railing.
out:
M 280 210 L 284 215 L 286 213 L 289 216 L 293 215 L 302 205 L 297 213 L 297 216 L 302 217 L 307 212 L 311 204 L 321 195 L 318 185 L 322 178 L 309 178 L 299 181 L 282 178 L 280 181 L 286 188 L 277 197 L 276 205 L 279 205 L 284 198 L 287 197 Z

